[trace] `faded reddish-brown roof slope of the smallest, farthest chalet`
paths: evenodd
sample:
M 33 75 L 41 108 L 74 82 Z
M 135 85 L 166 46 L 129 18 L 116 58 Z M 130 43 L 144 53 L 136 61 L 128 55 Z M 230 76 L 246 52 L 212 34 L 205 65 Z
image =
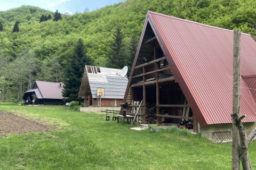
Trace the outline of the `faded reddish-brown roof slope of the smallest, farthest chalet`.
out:
M 63 84 L 47 81 L 36 81 L 36 85 L 44 99 L 62 99 Z

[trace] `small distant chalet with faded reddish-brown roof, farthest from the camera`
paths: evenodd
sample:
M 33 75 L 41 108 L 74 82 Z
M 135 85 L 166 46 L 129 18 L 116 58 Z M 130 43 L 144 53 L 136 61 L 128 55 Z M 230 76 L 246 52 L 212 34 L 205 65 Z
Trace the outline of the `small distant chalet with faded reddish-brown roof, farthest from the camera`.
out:
M 23 95 L 23 104 L 33 104 L 33 95 L 36 95 L 35 105 L 62 105 L 62 90 L 62 83 L 36 81 L 33 88 Z

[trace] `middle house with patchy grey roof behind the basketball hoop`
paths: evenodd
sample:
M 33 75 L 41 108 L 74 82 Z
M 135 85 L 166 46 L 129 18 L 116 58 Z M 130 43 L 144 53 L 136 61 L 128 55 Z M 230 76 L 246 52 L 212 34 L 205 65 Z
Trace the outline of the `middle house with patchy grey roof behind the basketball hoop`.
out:
M 116 73 L 119 69 L 86 65 L 83 79 L 79 90 L 78 99 L 84 99 L 84 106 L 99 106 L 100 96 L 97 96 L 97 88 L 105 90 L 105 95 L 101 96 L 101 106 L 119 106 L 122 103 L 127 78 L 122 78 Z

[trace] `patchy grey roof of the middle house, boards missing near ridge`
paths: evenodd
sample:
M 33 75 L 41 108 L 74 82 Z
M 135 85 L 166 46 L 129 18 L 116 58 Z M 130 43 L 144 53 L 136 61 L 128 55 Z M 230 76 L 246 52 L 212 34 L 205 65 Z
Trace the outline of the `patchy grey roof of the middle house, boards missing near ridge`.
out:
M 92 67 L 95 66 L 85 66 L 78 97 L 82 98 L 90 91 L 93 98 L 99 98 L 99 96 L 97 96 L 97 88 L 105 88 L 105 96 L 101 98 L 123 99 L 128 79 L 122 78 L 116 74 L 120 73 L 121 70 L 98 67 L 99 72 L 88 72 L 87 68 L 90 69 Z M 87 84 L 89 84 L 89 86 Z

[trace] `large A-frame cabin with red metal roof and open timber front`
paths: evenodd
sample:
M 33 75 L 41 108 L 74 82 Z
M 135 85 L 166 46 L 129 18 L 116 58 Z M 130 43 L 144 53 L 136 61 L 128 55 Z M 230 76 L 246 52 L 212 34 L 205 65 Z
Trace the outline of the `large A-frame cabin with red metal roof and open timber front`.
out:
M 242 33 L 241 44 L 242 75 L 256 82 L 256 42 Z M 126 112 L 134 115 L 137 101 L 143 100 L 142 123 L 186 120 L 194 132 L 210 139 L 229 138 L 232 75 L 232 30 L 149 11 L 124 96 Z M 241 84 L 247 87 L 245 79 Z M 241 111 L 250 133 L 256 127 L 256 95 L 246 88 L 241 92 Z

